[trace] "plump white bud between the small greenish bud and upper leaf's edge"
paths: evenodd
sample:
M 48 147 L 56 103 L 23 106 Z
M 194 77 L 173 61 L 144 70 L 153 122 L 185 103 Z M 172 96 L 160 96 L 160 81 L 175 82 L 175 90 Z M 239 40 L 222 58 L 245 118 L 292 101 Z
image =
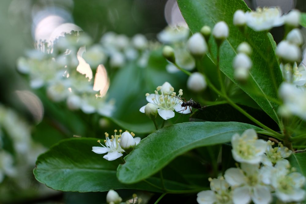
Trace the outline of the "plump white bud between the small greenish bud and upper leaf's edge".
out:
M 207 44 L 200 33 L 195 33 L 188 39 L 187 47 L 193 56 L 202 57 L 207 52 Z

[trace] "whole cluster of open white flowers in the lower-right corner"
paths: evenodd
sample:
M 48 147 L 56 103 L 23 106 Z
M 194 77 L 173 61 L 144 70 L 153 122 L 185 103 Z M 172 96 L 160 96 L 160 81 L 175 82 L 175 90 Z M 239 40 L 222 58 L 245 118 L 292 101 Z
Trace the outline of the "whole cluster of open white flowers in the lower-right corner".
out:
M 281 143 L 272 147 L 274 142 L 257 139 L 253 129 L 233 135 L 231 143 L 233 158 L 241 162 L 240 167 L 227 169 L 224 178 L 210 178 L 211 191 L 199 192 L 198 203 L 268 204 L 272 195 L 282 202 L 305 198 L 305 177 L 294 172 L 285 159 L 292 153 L 287 147 Z

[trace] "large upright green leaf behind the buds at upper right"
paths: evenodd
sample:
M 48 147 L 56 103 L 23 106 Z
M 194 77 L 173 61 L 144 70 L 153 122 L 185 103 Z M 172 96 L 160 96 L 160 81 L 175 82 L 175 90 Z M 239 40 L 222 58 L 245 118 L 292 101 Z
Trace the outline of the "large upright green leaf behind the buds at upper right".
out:
M 199 32 L 203 25 L 211 28 L 218 21 L 225 21 L 230 28 L 230 36 L 220 47 L 220 70 L 246 92 L 256 103 L 276 122 L 279 123 L 277 115 L 278 105 L 273 102 L 278 94 L 277 90 L 282 82 L 282 74 L 277 63 L 273 45 L 267 33 L 254 32 L 246 28 L 245 34 L 233 26 L 233 13 L 237 9 L 249 10 L 242 0 L 177 0 L 183 17 L 190 30 Z M 247 41 L 252 47 L 251 59 L 253 62 L 250 76 L 246 83 L 240 83 L 234 78 L 232 66 L 236 55 L 237 46 Z M 209 55 L 216 62 L 217 45 L 213 37 L 209 40 L 211 53 Z

